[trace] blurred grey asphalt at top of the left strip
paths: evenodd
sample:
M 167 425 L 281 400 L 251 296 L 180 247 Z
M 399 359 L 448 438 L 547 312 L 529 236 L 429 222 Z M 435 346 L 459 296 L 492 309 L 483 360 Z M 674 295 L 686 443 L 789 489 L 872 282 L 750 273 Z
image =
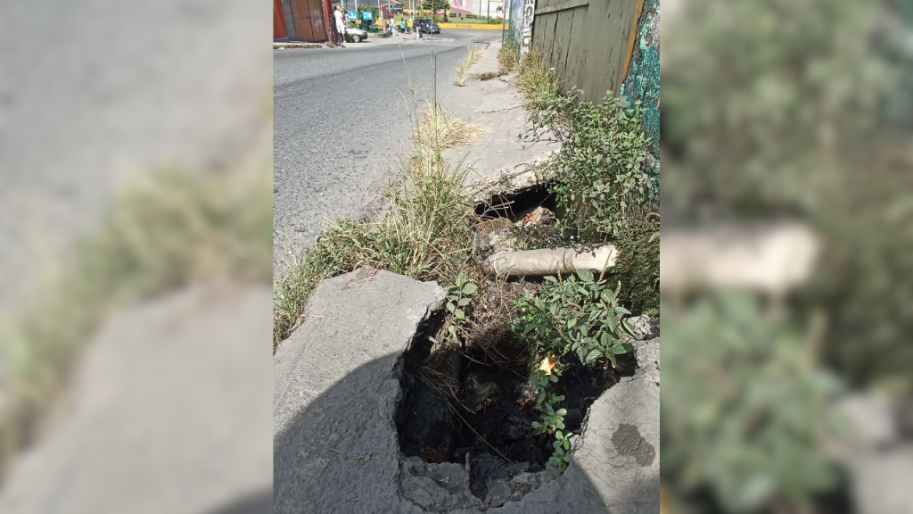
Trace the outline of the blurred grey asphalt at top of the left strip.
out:
M 263 16 L 244 0 L 0 2 L 0 318 L 122 188 L 263 160 Z

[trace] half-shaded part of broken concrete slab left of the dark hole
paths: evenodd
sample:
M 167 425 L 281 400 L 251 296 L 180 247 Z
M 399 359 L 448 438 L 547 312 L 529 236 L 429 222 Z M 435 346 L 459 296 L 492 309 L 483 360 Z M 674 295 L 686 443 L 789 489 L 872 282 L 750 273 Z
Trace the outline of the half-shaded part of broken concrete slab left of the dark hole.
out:
M 399 494 L 393 418 L 402 354 L 444 299 L 436 283 L 372 268 L 311 294 L 275 356 L 276 512 L 421 511 Z

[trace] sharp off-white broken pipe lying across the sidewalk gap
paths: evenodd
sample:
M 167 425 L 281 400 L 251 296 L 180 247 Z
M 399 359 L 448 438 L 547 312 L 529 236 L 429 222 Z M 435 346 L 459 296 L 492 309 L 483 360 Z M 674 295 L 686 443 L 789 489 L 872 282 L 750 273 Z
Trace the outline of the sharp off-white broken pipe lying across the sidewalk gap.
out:
M 618 258 L 614 245 L 577 245 L 521 252 L 495 252 L 482 262 L 485 273 L 499 276 L 553 275 L 588 270 L 593 273 L 613 267 Z

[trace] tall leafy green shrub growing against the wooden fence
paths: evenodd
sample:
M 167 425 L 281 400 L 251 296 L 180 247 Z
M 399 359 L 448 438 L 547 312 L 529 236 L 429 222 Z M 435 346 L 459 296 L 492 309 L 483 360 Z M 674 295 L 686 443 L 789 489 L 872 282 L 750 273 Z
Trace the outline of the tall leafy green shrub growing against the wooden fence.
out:
M 641 112 L 606 92 L 602 105 L 569 94 L 540 92 L 530 101 L 531 139 L 549 134 L 561 151 L 542 167 L 565 211 L 564 238 L 612 242 L 619 251 L 613 276 L 622 304 L 648 316 L 659 307 L 659 206 L 655 170 L 646 169 L 649 140 Z M 547 129 L 547 131 L 545 130 Z

